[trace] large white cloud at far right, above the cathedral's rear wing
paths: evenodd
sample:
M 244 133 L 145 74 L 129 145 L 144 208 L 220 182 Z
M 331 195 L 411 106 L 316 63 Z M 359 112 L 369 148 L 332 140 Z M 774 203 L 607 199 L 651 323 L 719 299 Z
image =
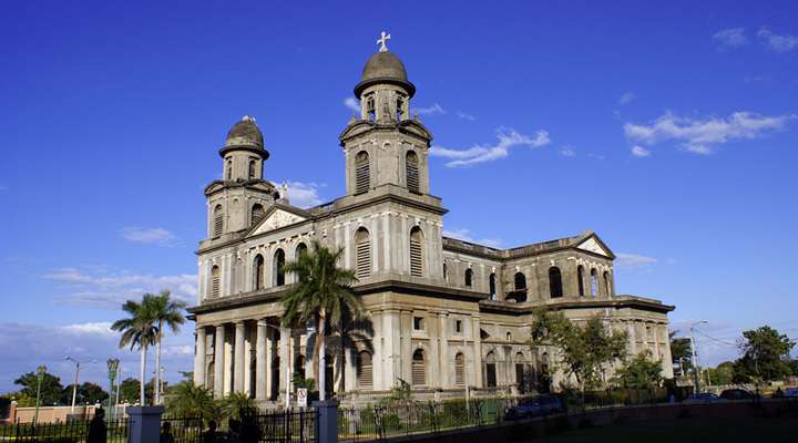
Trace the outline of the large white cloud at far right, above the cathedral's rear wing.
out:
M 758 138 L 768 131 L 784 128 L 797 115 L 766 116 L 751 112 L 735 112 L 726 119 L 705 120 L 678 117 L 665 113 L 648 125 L 624 124 L 631 141 L 653 145 L 673 140 L 696 154 L 712 154 L 715 146 L 740 138 Z

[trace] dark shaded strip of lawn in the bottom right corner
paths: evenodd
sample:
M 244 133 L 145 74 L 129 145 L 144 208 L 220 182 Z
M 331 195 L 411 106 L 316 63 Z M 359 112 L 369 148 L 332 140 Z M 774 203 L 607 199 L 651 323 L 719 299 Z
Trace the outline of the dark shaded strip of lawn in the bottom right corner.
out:
M 798 416 L 777 419 L 684 419 L 658 423 L 626 423 L 567 431 L 528 442 L 686 443 L 798 442 Z

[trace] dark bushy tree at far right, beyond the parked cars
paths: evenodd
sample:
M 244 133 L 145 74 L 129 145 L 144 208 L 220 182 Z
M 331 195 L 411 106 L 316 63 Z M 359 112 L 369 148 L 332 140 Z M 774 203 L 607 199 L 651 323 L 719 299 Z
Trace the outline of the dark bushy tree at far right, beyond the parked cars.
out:
M 739 342 L 743 357 L 735 362 L 735 374 L 749 375 L 755 381 L 778 380 L 789 375 L 790 351 L 795 341 L 769 326 L 743 332 Z

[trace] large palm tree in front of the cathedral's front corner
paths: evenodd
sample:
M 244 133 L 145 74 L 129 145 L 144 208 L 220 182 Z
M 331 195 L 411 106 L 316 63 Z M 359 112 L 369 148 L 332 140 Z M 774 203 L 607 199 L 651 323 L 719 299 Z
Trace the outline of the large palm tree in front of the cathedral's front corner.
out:
M 319 339 L 314 342 L 314 379 L 319 380 L 321 346 L 327 331 L 340 328 L 345 311 L 359 318 L 362 301 L 351 290 L 357 281 L 355 271 L 338 267 L 344 249 L 330 250 L 314 240 L 310 251 L 299 254 L 296 260 L 285 265 L 286 272 L 293 272 L 297 282 L 283 297 L 283 326 L 294 327 L 315 322 Z M 319 390 L 324 387 L 319 385 Z

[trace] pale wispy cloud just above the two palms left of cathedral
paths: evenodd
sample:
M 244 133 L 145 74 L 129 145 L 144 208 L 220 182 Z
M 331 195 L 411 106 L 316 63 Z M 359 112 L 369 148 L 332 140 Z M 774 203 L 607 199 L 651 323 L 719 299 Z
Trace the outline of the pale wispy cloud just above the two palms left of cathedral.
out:
M 103 267 L 60 268 L 42 278 L 63 285 L 57 301 L 117 309 L 125 300 L 139 299 L 145 292 L 168 289 L 184 301 L 196 300 L 197 276 L 192 274 L 155 276 L 110 271 Z

